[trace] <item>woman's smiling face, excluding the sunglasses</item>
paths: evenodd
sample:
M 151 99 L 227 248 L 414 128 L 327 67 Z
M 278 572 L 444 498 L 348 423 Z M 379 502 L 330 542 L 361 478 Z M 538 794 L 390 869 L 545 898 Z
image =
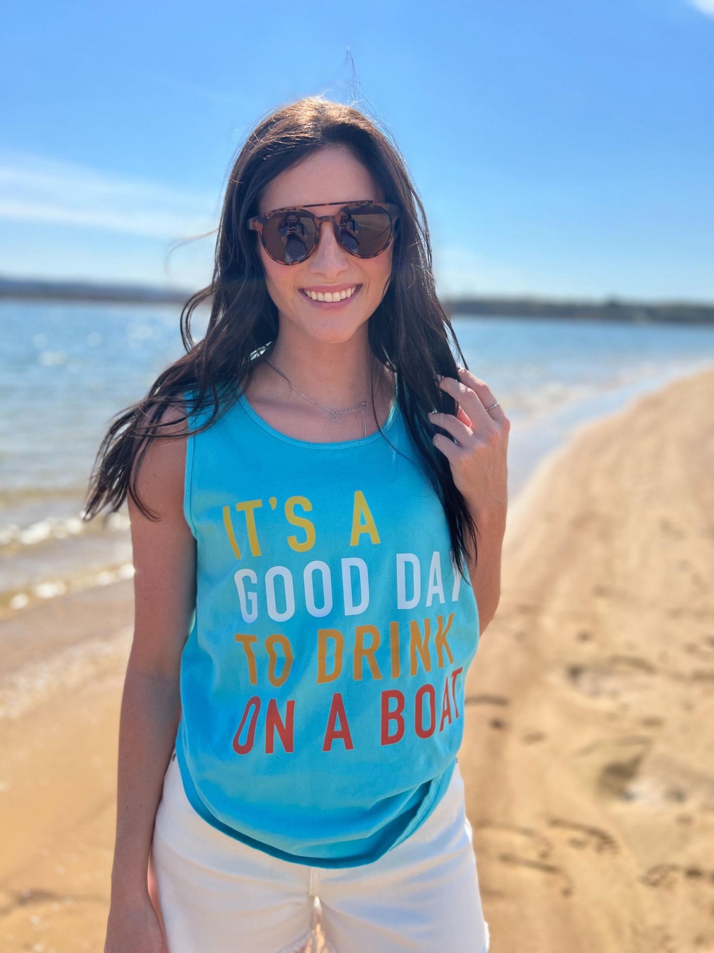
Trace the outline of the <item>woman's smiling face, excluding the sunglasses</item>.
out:
M 314 152 L 299 165 L 281 172 L 266 186 L 258 206 L 260 214 L 289 205 L 326 202 L 353 202 L 359 199 L 384 201 L 367 169 L 342 146 Z M 316 215 L 337 212 L 338 206 L 310 209 Z M 256 233 L 257 238 L 257 233 Z M 332 225 L 323 222 L 320 241 L 306 261 L 281 265 L 258 243 L 268 294 L 280 315 L 281 333 L 286 323 L 314 340 L 340 344 L 364 326 L 387 291 L 391 274 L 392 246 L 374 258 L 358 258 L 348 253 L 335 237 Z M 325 307 L 305 293 L 331 294 L 354 289 L 339 307 Z

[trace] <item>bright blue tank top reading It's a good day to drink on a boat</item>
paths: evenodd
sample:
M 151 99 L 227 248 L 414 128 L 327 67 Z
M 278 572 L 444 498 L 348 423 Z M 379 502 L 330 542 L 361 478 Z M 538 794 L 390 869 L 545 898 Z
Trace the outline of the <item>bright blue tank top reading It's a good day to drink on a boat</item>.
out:
M 289 862 L 404 841 L 463 736 L 476 599 L 396 399 L 383 433 L 295 439 L 241 395 L 187 439 L 181 776 L 209 824 Z

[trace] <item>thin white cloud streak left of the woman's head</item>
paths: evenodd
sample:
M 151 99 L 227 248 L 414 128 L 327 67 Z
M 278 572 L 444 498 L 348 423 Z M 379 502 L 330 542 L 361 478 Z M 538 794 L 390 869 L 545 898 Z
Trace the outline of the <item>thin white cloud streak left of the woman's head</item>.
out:
M 216 227 L 216 198 L 40 155 L 0 154 L 0 218 L 176 239 Z

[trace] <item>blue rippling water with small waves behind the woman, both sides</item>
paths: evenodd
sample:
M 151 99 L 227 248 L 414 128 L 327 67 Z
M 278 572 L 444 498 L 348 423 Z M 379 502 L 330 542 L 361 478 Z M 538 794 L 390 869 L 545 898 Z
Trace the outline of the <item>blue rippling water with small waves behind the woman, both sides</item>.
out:
M 175 306 L 0 302 L 0 618 L 132 575 L 126 507 L 81 518 L 113 416 L 183 354 Z M 205 332 L 197 315 L 194 338 Z M 509 497 L 588 417 L 714 367 L 714 328 L 453 321 L 471 371 L 511 421 Z

